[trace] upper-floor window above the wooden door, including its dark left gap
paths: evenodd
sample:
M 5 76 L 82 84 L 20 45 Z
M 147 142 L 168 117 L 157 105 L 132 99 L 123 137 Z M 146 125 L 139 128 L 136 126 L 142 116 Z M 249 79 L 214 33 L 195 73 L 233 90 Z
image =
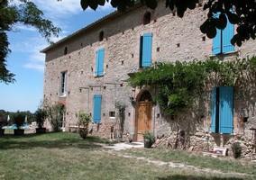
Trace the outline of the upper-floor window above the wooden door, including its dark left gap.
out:
M 151 67 L 152 33 L 144 33 L 141 36 L 140 67 Z

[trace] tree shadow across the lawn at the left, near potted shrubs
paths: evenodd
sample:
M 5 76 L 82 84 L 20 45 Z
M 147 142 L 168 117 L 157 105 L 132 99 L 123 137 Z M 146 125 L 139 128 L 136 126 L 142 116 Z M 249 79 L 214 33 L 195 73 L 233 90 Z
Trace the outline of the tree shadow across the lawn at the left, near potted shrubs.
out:
M 63 135 L 64 134 L 64 135 Z M 63 133 L 25 134 L 23 136 L 5 135 L 0 138 L 0 149 L 29 149 L 29 148 L 102 148 L 108 144 L 105 139 L 88 136 L 81 139 L 78 135 Z M 38 138 L 40 137 L 40 138 Z

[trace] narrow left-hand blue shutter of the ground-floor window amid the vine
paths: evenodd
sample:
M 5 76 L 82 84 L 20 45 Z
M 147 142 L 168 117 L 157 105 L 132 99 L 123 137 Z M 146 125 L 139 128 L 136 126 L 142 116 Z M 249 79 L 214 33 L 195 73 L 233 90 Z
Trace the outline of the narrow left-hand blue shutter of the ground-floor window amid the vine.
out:
M 216 132 L 216 87 L 211 94 L 211 131 Z

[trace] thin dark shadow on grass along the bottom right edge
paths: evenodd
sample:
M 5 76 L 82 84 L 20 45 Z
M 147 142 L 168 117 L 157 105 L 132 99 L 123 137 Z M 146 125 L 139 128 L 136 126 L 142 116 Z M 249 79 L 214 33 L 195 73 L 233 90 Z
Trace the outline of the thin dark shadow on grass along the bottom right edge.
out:
M 169 175 L 167 177 L 159 177 L 159 180 L 243 180 L 238 177 L 205 177 L 198 175 Z

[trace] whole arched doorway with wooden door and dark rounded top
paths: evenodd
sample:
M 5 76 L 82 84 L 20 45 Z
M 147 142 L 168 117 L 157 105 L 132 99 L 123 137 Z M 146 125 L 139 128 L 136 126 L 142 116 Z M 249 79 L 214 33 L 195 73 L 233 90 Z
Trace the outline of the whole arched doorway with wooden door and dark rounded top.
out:
M 152 97 L 149 91 L 138 94 L 136 99 L 135 139 L 143 140 L 143 134 L 151 130 Z

